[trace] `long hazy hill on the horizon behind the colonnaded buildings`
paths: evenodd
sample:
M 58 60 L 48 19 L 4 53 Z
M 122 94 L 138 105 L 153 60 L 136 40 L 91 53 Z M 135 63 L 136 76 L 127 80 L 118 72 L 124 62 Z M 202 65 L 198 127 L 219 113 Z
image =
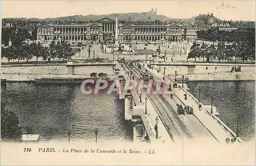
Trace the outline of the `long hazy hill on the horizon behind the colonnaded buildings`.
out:
M 57 18 L 44 18 L 44 19 L 38 19 L 38 18 L 9 18 L 9 19 L 20 19 L 20 20 L 31 20 L 31 21 L 96 21 L 101 18 L 108 17 L 111 19 L 118 18 L 119 21 L 193 21 L 195 18 L 188 18 L 188 19 L 179 19 L 179 18 L 169 18 L 164 15 L 157 15 L 152 12 L 142 12 L 142 13 L 113 13 L 113 14 L 104 14 L 104 15 L 74 15 L 74 16 L 67 16 L 67 17 L 57 17 Z

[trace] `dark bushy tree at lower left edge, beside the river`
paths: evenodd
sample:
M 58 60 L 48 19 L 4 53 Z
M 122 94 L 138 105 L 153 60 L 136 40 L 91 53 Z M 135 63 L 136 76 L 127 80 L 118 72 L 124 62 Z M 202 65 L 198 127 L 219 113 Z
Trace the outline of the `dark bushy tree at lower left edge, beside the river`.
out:
M 1 102 L 1 139 L 7 141 L 22 140 L 22 132 L 18 125 L 18 117 L 13 111 L 8 111 Z

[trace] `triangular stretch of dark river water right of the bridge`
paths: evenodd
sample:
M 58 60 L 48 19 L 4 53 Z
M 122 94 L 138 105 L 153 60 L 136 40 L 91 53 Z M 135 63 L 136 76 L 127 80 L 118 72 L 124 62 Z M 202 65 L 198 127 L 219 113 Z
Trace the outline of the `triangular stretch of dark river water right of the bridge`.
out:
M 254 138 L 255 81 L 189 81 L 188 88 L 202 104 L 211 105 L 213 97 L 219 118 L 236 133 L 238 124 L 244 141 Z

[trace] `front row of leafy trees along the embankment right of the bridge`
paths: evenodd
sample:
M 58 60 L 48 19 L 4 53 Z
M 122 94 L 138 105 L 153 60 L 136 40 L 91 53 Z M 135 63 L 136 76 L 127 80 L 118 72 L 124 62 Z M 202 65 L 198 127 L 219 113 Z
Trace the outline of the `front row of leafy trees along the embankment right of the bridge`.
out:
M 190 48 L 190 52 L 187 56 L 188 59 L 194 58 L 203 59 L 203 62 L 210 62 L 214 59 L 221 61 L 231 61 L 233 58 L 235 63 L 237 59 L 241 59 L 243 62 L 247 60 L 255 61 L 255 47 L 250 48 L 249 46 L 241 46 L 235 42 L 225 44 L 224 42 L 219 42 L 218 45 L 207 45 L 198 44 L 196 42 Z

